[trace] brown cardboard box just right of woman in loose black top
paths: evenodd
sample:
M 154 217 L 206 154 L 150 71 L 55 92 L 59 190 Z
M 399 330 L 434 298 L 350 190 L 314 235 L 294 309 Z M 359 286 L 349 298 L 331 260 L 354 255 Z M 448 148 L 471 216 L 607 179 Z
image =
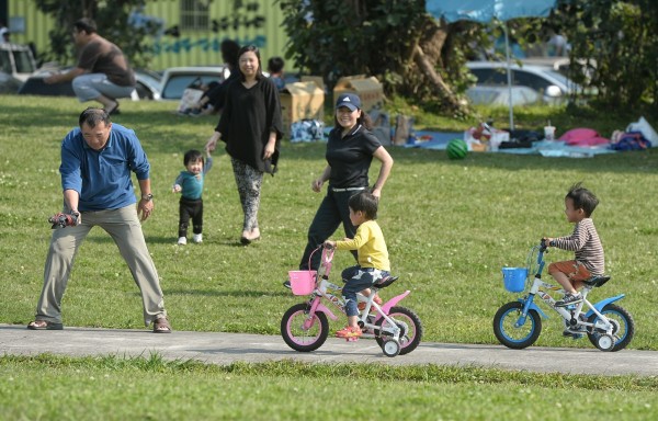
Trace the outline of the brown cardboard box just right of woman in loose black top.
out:
M 286 136 L 291 136 L 291 124 L 300 120 L 317 120 L 325 116 L 325 91 L 315 82 L 286 83 L 281 91 L 281 114 Z

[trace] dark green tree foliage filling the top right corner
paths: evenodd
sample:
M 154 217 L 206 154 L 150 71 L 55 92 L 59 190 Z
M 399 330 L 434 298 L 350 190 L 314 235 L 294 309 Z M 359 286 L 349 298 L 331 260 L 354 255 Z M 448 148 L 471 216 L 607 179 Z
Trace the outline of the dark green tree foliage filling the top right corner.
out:
M 658 116 L 658 2 L 563 0 L 545 24 L 567 35 L 571 77 L 597 88 L 601 105 L 646 104 Z

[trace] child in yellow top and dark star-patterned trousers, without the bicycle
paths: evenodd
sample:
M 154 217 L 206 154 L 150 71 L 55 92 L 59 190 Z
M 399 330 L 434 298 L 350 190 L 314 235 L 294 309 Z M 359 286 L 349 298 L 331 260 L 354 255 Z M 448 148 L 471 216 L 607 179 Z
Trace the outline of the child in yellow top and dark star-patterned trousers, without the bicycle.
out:
M 353 239 L 345 238 L 342 241 L 325 241 L 325 247 L 337 250 L 356 250 L 359 259 L 355 266 L 342 271 L 345 286 L 342 289 L 345 299 L 345 312 L 348 326 L 336 332 L 338 338 L 359 338 L 361 328 L 358 325 L 359 308 L 356 305 L 356 293 L 362 292 L 370 296 L 370 287 L 377 281 L 390 275 L 390 263 L 388 250 L 382 228 L 375 221 L 377 218 L 378 201 L 372 193 L 361 192 L 348 202 L 350 207 L 350 220 L 356 227 Z M 382 304 L 382 298 L 375 296 L 374 301 Z

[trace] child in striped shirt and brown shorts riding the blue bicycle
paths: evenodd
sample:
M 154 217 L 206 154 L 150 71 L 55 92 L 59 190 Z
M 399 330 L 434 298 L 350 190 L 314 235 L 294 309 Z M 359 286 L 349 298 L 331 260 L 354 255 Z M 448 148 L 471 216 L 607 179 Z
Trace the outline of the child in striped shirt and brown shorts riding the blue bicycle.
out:
M 554 262 L 548 273 L 566 291 L 565 297 L 555 303 L 556 307 L 566 307 L 582 301 L 578 292 L 583 281 L 603 275 L 605 259 L 603 246 L 591 218 L 599 200 L 581 183 L 574 184 L 565 196 L 565 214 L 569 223 L 575 223 L 574 232 L 568 237 L 544 238 L 546 246 L 576 252 L 575 260 Z

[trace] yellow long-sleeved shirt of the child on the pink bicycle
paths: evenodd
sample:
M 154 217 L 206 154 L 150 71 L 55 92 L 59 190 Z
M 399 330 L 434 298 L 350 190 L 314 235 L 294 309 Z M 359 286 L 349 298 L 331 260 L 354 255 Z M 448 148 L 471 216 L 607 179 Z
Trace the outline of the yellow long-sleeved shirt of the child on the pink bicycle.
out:
M 336 241 L 338 250 L 358 250 L 359 265 L 390 271 L 388 250 L 382 228 L 375 220 L 366 220 L 356 229 L 352 240 Z

